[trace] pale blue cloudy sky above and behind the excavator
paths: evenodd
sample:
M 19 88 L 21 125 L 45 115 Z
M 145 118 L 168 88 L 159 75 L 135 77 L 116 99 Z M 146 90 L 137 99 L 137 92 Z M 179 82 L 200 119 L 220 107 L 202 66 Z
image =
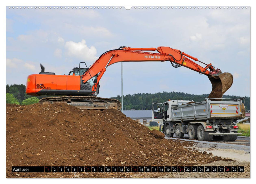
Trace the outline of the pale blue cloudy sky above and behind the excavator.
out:
M 91 65 L 121 45 L 179 49 L 231 73 L 234 82 L 225 94 L 250 96 L 250 7 L 6 7 L 6 84 L 25 85 L 28 75 L 41 71 L 40 63 L 45 71 L 67 75 L 79 62 Z M 211 83 L 206 75 L 170 62 L 123 63 L 124 95 L 162 91 L 209 94 Z M 117 95 L 121 63 L 107 68 L 98 96 Z

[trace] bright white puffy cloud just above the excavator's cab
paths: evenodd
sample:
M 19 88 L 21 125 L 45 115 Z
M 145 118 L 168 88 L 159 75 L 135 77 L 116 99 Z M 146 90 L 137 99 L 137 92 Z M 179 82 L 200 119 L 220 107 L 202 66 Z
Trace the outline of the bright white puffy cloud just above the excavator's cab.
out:
M 83 61 L 95 61 L 98 58 L 96 57 L 96 48 L 93 46 L 89 48 L 85 43 L 85 40 L 78 43 L 73 41 L 66 42 L 65 48 L 67 49 L 67 55 L 82 59 Z

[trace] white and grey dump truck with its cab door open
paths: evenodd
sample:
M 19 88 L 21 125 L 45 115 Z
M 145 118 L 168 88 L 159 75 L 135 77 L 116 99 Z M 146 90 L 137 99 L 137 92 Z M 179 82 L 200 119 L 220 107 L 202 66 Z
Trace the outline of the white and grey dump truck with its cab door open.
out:
M 237 120 L 245 117 L 242 99 L 205 98 L 205 101 L 168 100 L 165 103 L 153 103 L 153 121 L 163 121 L 162 131 L 166 137 L 200 141 L 237 139 Z

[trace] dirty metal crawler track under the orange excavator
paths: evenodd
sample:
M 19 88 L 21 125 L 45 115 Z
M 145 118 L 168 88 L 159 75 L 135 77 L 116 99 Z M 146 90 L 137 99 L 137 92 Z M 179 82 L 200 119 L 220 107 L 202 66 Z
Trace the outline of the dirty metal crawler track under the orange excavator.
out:
M 39 100 L 40 104 L 66 102 L 79 109 L 121 110 L 121 103 L 116 99 L 100 98 L 96 96 L 58 96 L 46 97 Z

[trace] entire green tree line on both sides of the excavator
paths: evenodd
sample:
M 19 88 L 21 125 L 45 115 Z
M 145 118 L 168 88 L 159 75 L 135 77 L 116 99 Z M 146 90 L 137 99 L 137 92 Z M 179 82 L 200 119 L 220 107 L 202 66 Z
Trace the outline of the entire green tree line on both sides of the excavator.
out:
M 194 95 L 183 92 L 158 92 L 158 93 L 134 93 L 133 95 L 123 96 L 123 108 L 128 109 L 152 109 L 152 103 L 163 103 L 170 100 L 193 100 L 194 102 L 204 101 L 209 94 Z M 23 84 L 12 84 L 6 85 L 6 103 L 11 104 L 22 104 L 29 105 L 34 104 L 39 101 L 39 99 L 45 96 L 35 96 L 26 94 L 26 86 Z M 223 95 L 223 98 L 241 98 L 243 96 L 235 95 Z M 244 96 L 245 109 L 250 110 L 250 97 Z M 121 96 L 117 95 L 112 97 L 112 99 L 117 99 L 121 101 Z

